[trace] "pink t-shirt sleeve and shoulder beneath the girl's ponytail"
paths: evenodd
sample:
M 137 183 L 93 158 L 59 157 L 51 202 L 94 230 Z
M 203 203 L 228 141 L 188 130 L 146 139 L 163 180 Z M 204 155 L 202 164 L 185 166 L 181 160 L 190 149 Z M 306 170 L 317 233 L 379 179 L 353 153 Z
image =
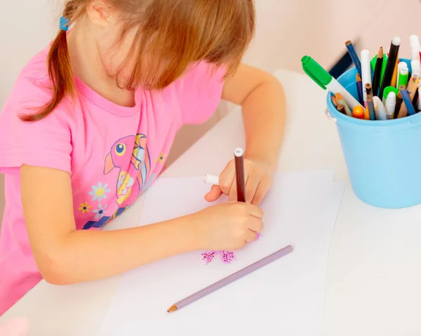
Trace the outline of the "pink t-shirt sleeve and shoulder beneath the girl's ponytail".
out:
M 0 173 L 18 173 L 22 164 L 70 171 L 72 125 L 78 119 L 69 100 L 44 119 L 23 121 L 52 98 L 46 61 L 48 51 L 35 55 L 18 75 L 0 112 Z

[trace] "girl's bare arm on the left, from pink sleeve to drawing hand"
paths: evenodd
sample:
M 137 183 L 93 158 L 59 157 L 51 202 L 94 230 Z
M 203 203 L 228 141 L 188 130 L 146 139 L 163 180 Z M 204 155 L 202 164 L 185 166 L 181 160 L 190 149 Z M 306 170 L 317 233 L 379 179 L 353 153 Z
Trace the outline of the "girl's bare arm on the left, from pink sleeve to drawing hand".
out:
M 69 173 L 22 166 L 20 176 L 32 253 L 41 275 L 56 285 L 105 278 L 193 250 L 241 248 L 262 229 L 259 208 L 225 203 L 133 229 L 76 231 Z

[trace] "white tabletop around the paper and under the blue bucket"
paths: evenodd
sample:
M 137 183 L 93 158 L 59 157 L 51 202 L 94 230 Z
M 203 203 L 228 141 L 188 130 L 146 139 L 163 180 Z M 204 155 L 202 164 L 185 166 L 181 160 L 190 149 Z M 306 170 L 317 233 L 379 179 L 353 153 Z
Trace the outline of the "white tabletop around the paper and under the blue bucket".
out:
M 347 184 L 330 245 L 323 335 L 421 335 L 421 208 L 383 210 L 359 201 L 349 186 L 335 122 L 324 114 L 326 91 L 302 74 L 281 70 L 276 76 L 288 97 L 279 170 L 333 169 L 335 179 Z M 232 149 L 243 145 L 237 109 L 163 176 L 218 174 Z M 133 227 L 141 212 L 142 198 L 107 229 Z M 0 323 L 23 316 L 30 335 L 96 335 L 118 281 L 119 276 L 68 286 L 42 281 Z

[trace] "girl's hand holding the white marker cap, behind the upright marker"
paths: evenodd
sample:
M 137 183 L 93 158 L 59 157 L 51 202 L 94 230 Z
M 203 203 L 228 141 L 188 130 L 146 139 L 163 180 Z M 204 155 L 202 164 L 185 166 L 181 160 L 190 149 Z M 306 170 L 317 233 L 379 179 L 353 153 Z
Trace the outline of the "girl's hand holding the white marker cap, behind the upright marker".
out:
M 274 167 L 265 161 L 244 159 L 244 175 L 246 180 L 246 202 L 258 206 L 272 184 Z M 213 202 L 222 195 L 229 195 L 230 201 L 236 201 L 235 162 L 229 161 L 220 175 L 220 185 L 214 185 L 205 199 Z

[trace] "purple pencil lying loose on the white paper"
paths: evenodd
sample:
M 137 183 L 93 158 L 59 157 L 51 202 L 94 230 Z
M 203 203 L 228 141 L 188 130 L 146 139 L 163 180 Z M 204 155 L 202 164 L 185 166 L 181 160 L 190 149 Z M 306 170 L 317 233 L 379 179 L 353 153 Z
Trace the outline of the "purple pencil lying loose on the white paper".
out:
M 170 309 L 168 309 L 168 313 L 171 313 L 173 311 L 182 309 L 183 307 L 186 307 L 187 305 L 201 299 L 202 297 L 205 297 L 206 295 L 215 292 L 215 290 L 218 290 L 222 287 L 225 287 L 226 285 L 229 285 L 229 283 L 232 283 L 239 278 L 242 278 L 243 276 L 246 276 L 253 271 L 256 271 L 257 269 L 260 269 L 267 264 L 270 264 L 271 262 L 274 262 L 275 260 L 278 260 L 279 258 L 288 255 L 289 253 L 293 252 L 294 248 L 293 246 L 286 246 L 282 250 L 279 250 L 272 255 L 268 255 L 267 257 L 263 258 L 262 260 L 259 260 L 258 262 L 255 262 L 254 264 L 250 264 L 248 267 L 245 267 L 239 271 L 237 271 L 234 274 L 231 274 L 230 276 L 227 276 L 226 278 L 223 278 L 222 280 L 213 283 L 213 285 L 210 285 L 203 290 L 200 290 L 197 293 L 194 293 L 193 295 L 190 295 L 189 297 L 186 297 L 184 300 L 181 300 L 180 302 L 177 302 L 174 304 Z

